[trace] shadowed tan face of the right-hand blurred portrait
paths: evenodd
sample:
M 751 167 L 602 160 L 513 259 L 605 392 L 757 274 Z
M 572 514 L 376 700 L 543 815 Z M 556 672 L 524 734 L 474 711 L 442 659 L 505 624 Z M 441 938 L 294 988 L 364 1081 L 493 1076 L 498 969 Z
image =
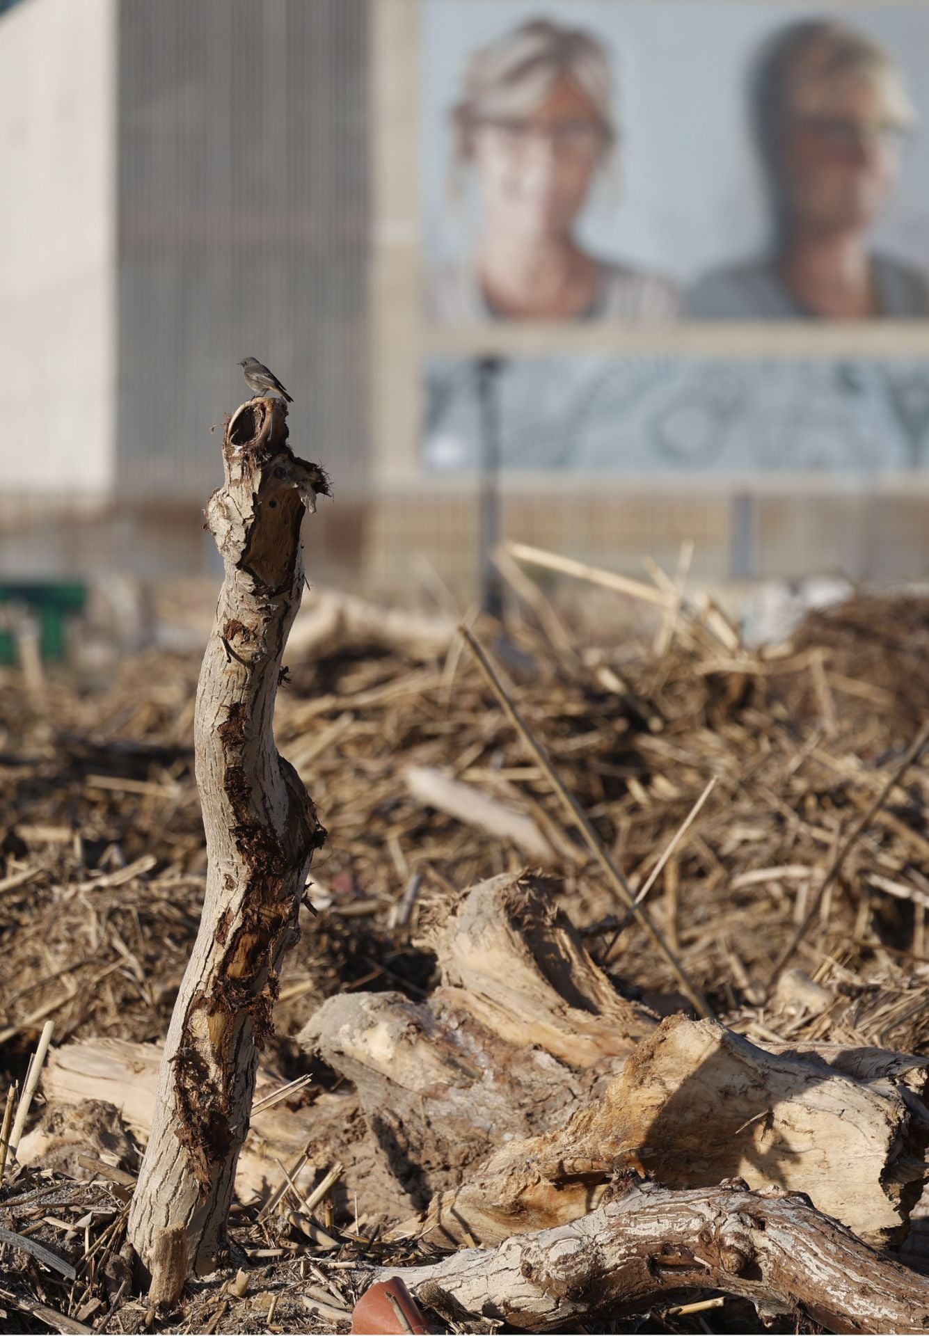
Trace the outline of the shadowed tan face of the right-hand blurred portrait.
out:
M 900 138 L 884 90 L 868 76 L 806 95 L 798 88 L 783 154 L 794 220 L 819 234 L 872 227 L 897 183 Z

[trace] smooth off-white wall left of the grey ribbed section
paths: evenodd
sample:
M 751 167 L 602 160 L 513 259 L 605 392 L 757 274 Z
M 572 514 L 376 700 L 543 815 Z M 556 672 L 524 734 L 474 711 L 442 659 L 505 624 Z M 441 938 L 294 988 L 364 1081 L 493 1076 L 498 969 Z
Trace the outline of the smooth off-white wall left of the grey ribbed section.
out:
M 114 478 L 116 0 L 0 17 L 5 501 Z

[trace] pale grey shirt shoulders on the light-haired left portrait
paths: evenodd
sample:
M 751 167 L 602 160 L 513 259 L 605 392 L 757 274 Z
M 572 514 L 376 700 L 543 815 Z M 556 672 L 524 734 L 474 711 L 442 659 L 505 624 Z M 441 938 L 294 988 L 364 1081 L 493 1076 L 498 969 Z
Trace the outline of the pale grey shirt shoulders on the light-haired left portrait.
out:
M 426 314 L 436 325 L 481 325 L 511 319 L 491 306 L 472 263 L 446 265 L 426 279 Z M 602 263 L 596 298 L 577 319 L 667 323 L 678 314 L 674 287 L 654 274 Z

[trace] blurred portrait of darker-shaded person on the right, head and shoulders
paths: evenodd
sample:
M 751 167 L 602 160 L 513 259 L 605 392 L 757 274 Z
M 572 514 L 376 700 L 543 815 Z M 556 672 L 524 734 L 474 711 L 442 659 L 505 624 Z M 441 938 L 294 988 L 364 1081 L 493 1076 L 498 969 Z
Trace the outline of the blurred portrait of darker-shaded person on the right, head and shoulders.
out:
M 884 47 L 846 23 L 789 24 L 765 45 L 751 114 L 770 199 L 771 250 L 687 297 L 694 319 L 913 319 L 926 273 L 872 246 L 916 115 Z

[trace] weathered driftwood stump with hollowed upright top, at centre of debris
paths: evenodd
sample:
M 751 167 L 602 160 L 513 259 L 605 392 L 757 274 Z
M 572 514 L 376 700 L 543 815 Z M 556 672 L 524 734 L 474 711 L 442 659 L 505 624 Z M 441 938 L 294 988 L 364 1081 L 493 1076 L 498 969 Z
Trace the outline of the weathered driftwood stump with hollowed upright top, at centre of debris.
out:
M 417 1205 L 504 1141 L 556 1128 L 656 1018 L 620 998 L 545 883 L 475 887 L 436 942 L 446 985 L 329 998 L 301 1045 L 348 1077 Z

